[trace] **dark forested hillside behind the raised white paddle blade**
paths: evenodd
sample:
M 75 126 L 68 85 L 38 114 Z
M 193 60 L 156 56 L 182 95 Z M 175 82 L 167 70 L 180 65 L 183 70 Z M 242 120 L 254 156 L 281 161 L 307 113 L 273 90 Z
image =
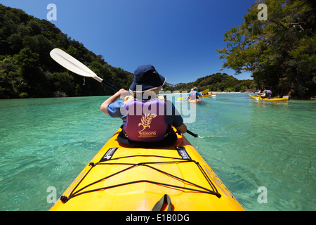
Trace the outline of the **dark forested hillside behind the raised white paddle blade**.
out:
M 108 65 L 103 56 L 67 37 L 52 23 L 0 4 L 0 98 L 98 96 L 113 94 L 94 79 L 84 79 L 55 63 L 58 47 L 119 88 L 129 88 L 133 74 Z

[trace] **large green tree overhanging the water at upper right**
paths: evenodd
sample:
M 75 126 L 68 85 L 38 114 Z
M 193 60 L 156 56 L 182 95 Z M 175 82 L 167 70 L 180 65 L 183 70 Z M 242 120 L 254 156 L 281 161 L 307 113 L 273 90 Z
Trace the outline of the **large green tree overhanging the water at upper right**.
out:
M 266 4 L 268 20 L 258 20 L 258 4 Z M 223 68 L 249 71 L 259 88 L 275 94 L 315 95 L 307 84 L 315 77 L 315 8 L 310 1 L 256 1 L 244 23 L 225 33 L 218 50 Z

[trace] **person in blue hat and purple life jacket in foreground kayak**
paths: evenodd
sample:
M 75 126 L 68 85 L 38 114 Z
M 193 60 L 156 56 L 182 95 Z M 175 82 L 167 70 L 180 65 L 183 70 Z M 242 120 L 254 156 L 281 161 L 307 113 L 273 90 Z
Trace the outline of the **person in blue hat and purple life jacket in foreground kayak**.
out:
M 134 72 L 130 93 L 120 89 L 108 98 L 100 110 L 123 120 L 118 141 L 123 146 L 166 146 L 177 139 L 171 126 L 187 131 L 183 118 L 171 101 L 157 96 L 166 78 L 152 65 L 140 65 Z M 124 97 L 124 100 L 118 100 Z

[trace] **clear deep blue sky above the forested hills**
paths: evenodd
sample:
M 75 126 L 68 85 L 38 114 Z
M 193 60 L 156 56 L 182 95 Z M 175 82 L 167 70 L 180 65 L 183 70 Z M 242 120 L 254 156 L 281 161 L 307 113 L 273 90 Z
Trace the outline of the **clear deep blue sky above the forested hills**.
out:
M 48 4 L 57 6 L 62 32 L 110 65 L 133 72 L 152 64 L 167 82 L 194 82 L 220 72 L 216 49 L 223 35 L 243 23 L 254 0 L 0 0 L 36 18 L 47 19 Z M 235 75 L 252 79 L 249 73 Z

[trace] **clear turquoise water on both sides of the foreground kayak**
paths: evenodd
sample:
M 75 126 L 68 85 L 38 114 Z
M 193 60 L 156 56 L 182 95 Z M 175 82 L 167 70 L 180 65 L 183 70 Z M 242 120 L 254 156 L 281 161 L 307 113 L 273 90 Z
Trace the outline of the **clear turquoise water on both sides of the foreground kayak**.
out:
M 107 97 L 0 101 L 0 210 L 49 210 L 121 124 Z M 245 210 L 316 210 L 316 101 L 218 94 L 197 105 L 185 136 Z M 258 203 L 259 187 L 267 203 Z

